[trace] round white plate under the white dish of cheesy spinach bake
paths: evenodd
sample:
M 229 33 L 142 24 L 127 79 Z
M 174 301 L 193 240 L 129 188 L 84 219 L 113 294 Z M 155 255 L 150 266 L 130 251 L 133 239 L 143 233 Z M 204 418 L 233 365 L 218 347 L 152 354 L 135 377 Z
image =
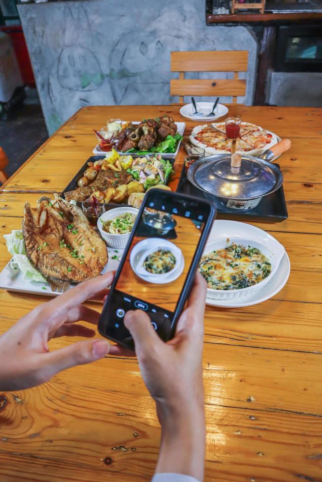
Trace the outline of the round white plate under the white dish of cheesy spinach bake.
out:
M 221 238 L 234 238 L 234 240 L 236 240 L 236 238 L 248 238 L 250 240 L 258 239 L 264 243 L 268 236 L 270 235 L 268 235 L 265 231 L 251 224 L 219 219 L 213 224 L 207 244 Z M 289 279 L 289 275 L 290 259 L 285 251 L 285 254 L 282 257 L 280 265 L 274 276 L 262 288 L 242 298 L 230 300 L 218 300 L 207 296 L 206 304 L 211 306 L 220 306 L 222 308 L 241 308 L 243 306 L 251 306 L 253 304 L 261 303 L 262 301 L 266 301 L 276 295 L 276 293 L 278 293 L 286 284 L 287 280 Z

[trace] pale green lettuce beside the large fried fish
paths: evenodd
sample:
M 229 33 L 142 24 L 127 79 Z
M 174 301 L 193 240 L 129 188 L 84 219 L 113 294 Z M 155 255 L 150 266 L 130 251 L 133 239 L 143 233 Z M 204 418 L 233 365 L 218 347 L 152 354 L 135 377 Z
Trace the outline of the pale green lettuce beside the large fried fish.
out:
M 5 234 L 3 238 L 5 239 L 9 253 L 13 257 L 10 263 L 12 272 L 16 274 L 18 270 L 21 271 L 23 279 L 28 281 L 46 282 L 42 274 L 33 268 L 27 257 L 22 231 L 20 229 L 13 230 L 11 234 Z

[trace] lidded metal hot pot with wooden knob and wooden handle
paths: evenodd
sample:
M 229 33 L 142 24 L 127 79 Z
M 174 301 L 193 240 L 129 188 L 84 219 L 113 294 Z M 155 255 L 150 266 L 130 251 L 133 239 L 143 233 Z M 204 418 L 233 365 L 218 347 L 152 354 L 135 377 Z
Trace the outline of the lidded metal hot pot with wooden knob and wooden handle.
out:
M 289 148 L 290 141 L 285 139 L 261 157 L 237 153 L 203 157 L 189 167 L 187 179 L 219 209 L 250 211 L 283 184 L 280 169 L 266 159 Z

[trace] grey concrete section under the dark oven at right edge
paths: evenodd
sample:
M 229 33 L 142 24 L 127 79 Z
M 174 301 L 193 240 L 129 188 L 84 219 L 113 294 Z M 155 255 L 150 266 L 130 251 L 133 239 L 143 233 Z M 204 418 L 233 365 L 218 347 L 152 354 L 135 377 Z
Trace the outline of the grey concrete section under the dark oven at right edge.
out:
M 322 107 L 322 73 L 270 72 L 266 100 L 271 105 Z

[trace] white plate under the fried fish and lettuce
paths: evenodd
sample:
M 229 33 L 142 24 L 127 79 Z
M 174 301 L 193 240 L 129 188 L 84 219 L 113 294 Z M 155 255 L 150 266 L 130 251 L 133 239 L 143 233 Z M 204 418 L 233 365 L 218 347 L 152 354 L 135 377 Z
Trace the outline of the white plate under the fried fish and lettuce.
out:
M 124 249 L 115 250 L 115 248 L 110 248 L 109 246 L 107 246 L 107 249 L 108 262 L 105 265 L 102 274 L 106 273 L 107 271 L 116 271 L 120 264 L 119 259 L 124 252 Z M 118 256 L 119 259 L 112 259 L 113 256 Z M 49 283 L 41 283 L 39 281 L 29 281 L 23 279 L 21 271 L 17 269 L 17 273 L 15 273 L 12 270 L 10 267 L 11 261 L 12 260 L 10 260 L 5 268 L 0 272 L 0 288 L 7 291 L 16 291 L 18 293 L 30 293 L 32 295 L 58 296 L 62 294 L 52 291 Z

